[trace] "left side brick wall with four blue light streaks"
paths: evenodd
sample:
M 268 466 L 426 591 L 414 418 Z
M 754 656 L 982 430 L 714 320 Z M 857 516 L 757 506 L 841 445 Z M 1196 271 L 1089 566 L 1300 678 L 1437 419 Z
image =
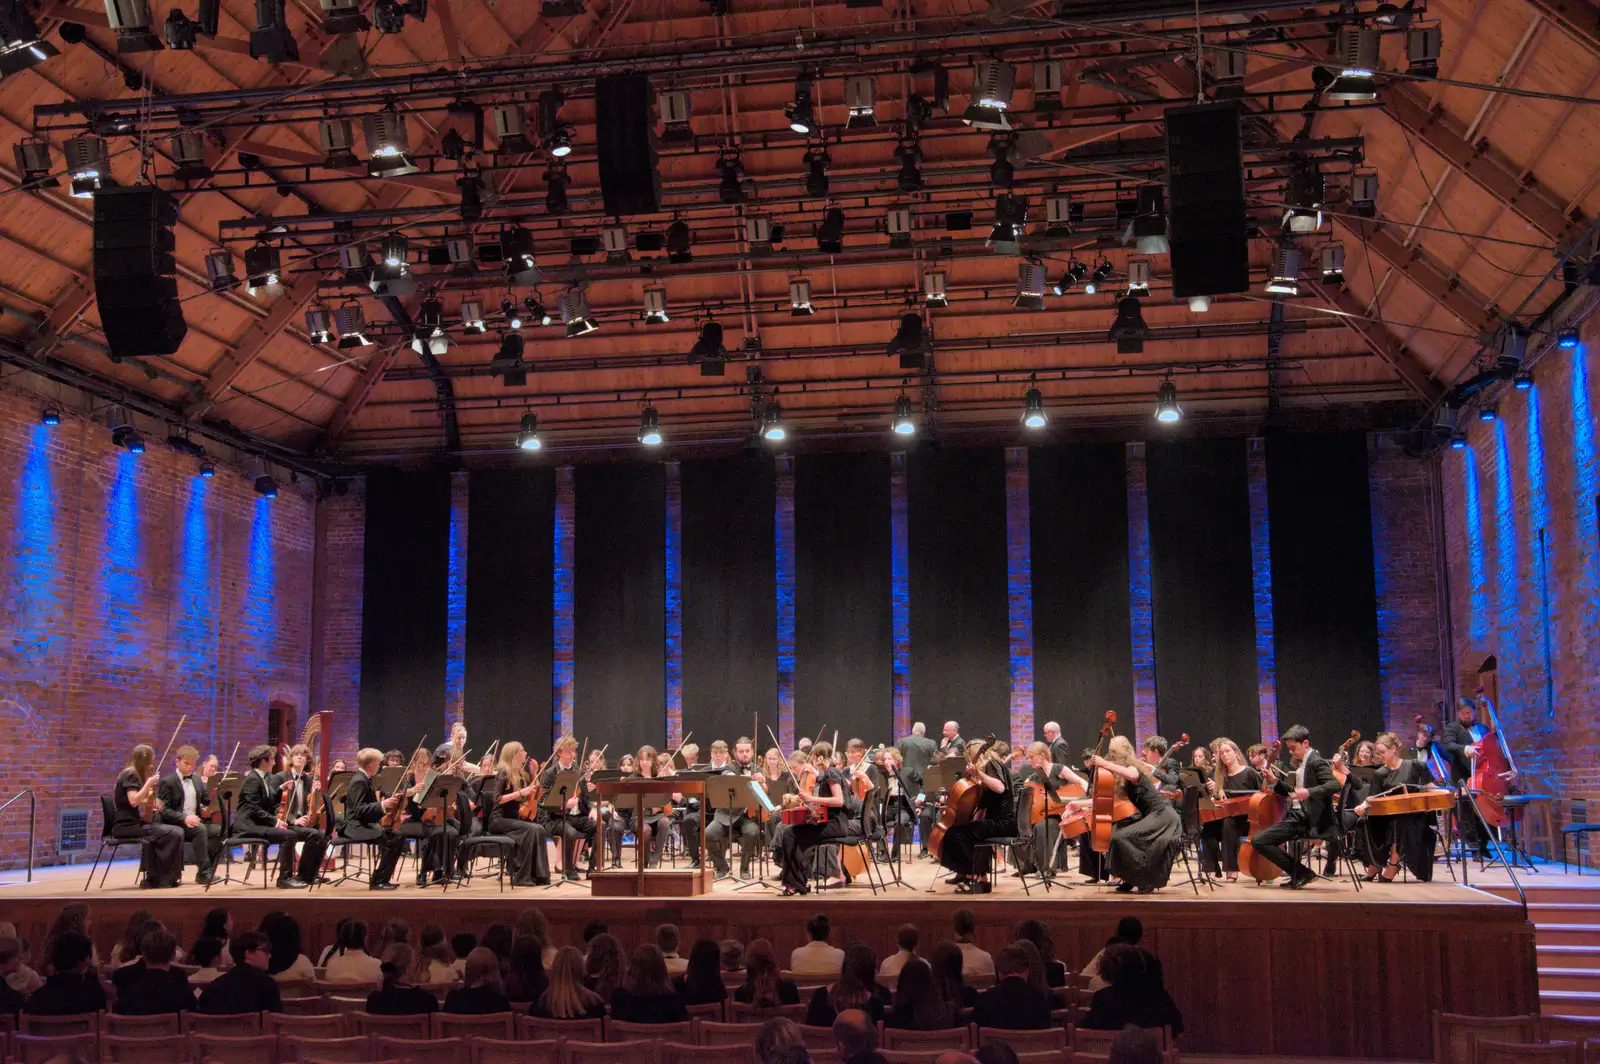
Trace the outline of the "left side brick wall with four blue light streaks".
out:
M 266 738 L 269 701 L 304 714 L 314 502 L 224 464 L 202 478 L 160 438 L 134 456 L 93 421 L 42 426 L 40 405 L 0 389 L 0 800 L 37 790 L 53 862 L 58 811 L 91 810 L 93 853 L 99 795 L 179 717 L 181 742 L 226 760 Z M 0 864 L 26 840 L 24 802 L 0 814 Z

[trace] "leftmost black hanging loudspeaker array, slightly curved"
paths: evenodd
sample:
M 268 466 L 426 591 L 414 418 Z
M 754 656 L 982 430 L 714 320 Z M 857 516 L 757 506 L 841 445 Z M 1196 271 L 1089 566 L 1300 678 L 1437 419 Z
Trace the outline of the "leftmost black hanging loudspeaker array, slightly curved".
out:
M 94 298 L 110 357 L 171 355 L 189 325 L 178 301 L 178 200 L 149 186 L 94 194 Z

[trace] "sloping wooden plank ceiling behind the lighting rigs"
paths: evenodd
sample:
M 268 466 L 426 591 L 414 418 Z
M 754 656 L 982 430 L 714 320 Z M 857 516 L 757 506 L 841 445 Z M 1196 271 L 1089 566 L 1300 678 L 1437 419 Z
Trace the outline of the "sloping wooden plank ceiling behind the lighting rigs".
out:
M 1390 74 L 1379 75 L 1379 99 L 1370 106 L 1317 106 L 1310 93 L 1314 69 L 1330 62 L 1330 19 L 1341 5 L 1202 0 L 1208 38 L 1250 53 L 1246 195 L 1261 222 L 1251 240 L 1253 290 L 1218 298 L 1205 314 L 1171 299 L 1166 256 L 1139 256 L 1112 237 L 1114 202 L 1131 197 L 1141 181 L 1163 179 L 1162 110 L 1195 96 L 1194 19 L 1126 21 L 1155 5 L 1069 0 L 1054 8 L 1006 0 L 1010 14 L 1002 14 L 978 0 L 890 0 L 866 8 L 728 0 L 731 11 L 714 14 L 707 0 L 586 0 L 581 14 L 546 18 L 528 0 L 432 0 L 426 21 L 406 19 L 403 32 L 355 38 L 370 64 L 366 78 L 438 80 L 443 72 L 454 75 L 454 93 L 472 96 L 490 77 L 486 69 L 515 69 L 517 93 L 485 91 L 478 102 L 520 99 L 530 128 L 541 88 L 560 85 L 570 96 L 562 120 L 573 128 L 571 210 L 552 216 L 544 206 L 544 152 L 485 155 L 483 174 L 502 206 L 467 227 L 445 224 L 456 219 L 458 165 L 437 158 L 440 101 L 451 93 L 389 94 L 408 115 L 411 147 L 429 158 L 426 173 L 368 179 L 365 170 L 318 165 L 315 118 L 323 109 L 358 117 L 381 98 L 352 99 L 366 82 L 318 66 L 331 62 L 333 38 L 320 32 L 315 0 L 290 0 L 301 62 L 278 66 L 248 56 L 256 16 L 246 0 L 222 0 L 218 38 L 202 38 L 194 51 L 122 56 L 104 11 L 85 3 L 45 0 L 37 8 L 40 30 L 61 56 L 0 82 L 0 131 L 8 142 L 37 130 L 59 166 L 64 139 L 83 120 L 35 109 L 123 101 L 128 114 L 142 96 L 128 88 L 138 82 L 131 72 L 157 98 L 150 118 L 158 130 L 173 128 L 184 102 L 173 96 L 211 94 L 195 107 L 206 99 L 227 102 L 240 90 L 275 90 L 275 99 L 227 102 L 232 117 L 210 128 L 208 162 L 216 173 L 205 181 L 173 179 L 171 144 L 150 139 L 157 181 L 181 200 L 176 243 L 189 336 L 170 357 L 112 362 L 93 293 L 91 203 L 72 198 L 64 182 L 18 190 L 21 174 L 3 150 L 6 363 L 32 365 L 102 397 L 130 389 L 147 398 L 147 413 L 237 432 L 278 456 L 317 462 L 509 454 L 525 410 L 539 414 L 546 445 L 555 451 L 634 448 L 646 405 L 659 410 L 669 450 L 738 448 L 754 426 L 752 390 L 758 406 L 771 389 L 790 438 L 802 445 L 888 438 L 902 390 L 925 432 L 1021 440 L 1018 414 L 1030 384 L 1045 395 L 1051 434 L 1147 435 L 1155 432 L 1147 422 L 1166 374 L 1189 421 L 1402 419 L 1472 373 L 1486 333 L 1507 320 L 1531 320 L 1560 294 L 1560 285 L 1549 282 L 1558 266 L 1555 250 L 1571 246 L 1600 211 L 1600 170 L 1590 150 L 1600 142 L 1600 37 L 1594 11 L 1574 11 L 1587 8 L 1586 0 L 1429 0 L 1416 19 L 1442 27 L 1438 80 L 1406 77 L 1405 35 L 1386 32 L 1381 67 Z M 157 30 L 171 6 L 152 3 Z M 1122 21 L 1098 18 L 1102 6 L 1120 8 Z M 1370 14 L 1376 5 L 1357 8 Z M 61 40 L 62 24 L 74 22 L 86 27 L 83 43 Z M 1246 38 L 1251 27 L 1259 32 Z M 75 35 L 70 27 L 69 35 Z M 1011 114 L 1026 133 L 1016 192 L 1029 198 L 1029 230 L 1043 230 L 1051 189 L 1088 203 L 1078 232 L 1040 245 L 1048 248 L 1040 261 L 1054 282 L 1070 258 L 1091 266 L 1104 256 L 1114 267 L 1112 291 L 1046 294 L 1043 310 L 1013 306 L 1021 259 L 982 246 L 994 216 L 989 134 L 957 118 L 971 91 L 973 61 L 987 53 L 1016 58 Z M 1059 107 L 1038 109 L 1053 94 L 1032 88 L 1029 56 L 1062 61 Z M 926 94 L 930 82 L 912 72 L 917 59 L 949 69 L 950 99 L 949 112 L 922 131 L 926 187 L 902 194 L 896 136 L 907 94 Z M 824 202 L 803 192 L 808 141 L 789 131 L 782 114 L 795 75 L 811 64 L 819 70 L 816 102 L 832 203 L 846 213 L 845 251 L 834 256 L 818 251 L 811 235 Z M 637 251 L 624 264 L 603 253 L 571 254 L 571 238 L 598 237 L 614 224 L 598 198 L 592 82 L 595 70 L 627 67 L 650 72 L 658 91 L 691 93 L 694 141 L 661 149 L 664 197 L 675 211 L 622 219 L 637 237 L 659 234 L 682 216 L 694 238 L 690 264 Z M 856 70 L 875 72 L 877 130 L 845 130 L 843 78 Z M 307 91 L 294 94 L 296 86 Z M 1202 88 L 1211 93 L 1210 82 Z M 1309 102 L 1314 112 L 1302 114 Z M 1336 214 L 1318 234 L 1298 238 L 1301 293 L 1274 304 L 1261 280 L 1278 234 L 1290 158 L 1283 146 L 1296 136 L 1330 144 L 1322 157 Z M 1360 157 L 1349 158 L 1339 144 L 1358 144 Z M 755 198 L 742 205 L 717 198 L 725 146 L 738 150 L 755 182 Z M 120 152 L 112 160 L 115 178 L 131 184 L 139 173 L 138 141 L 112 136 L 110 147 Z M 365 157 L 358 122 L 357 147 Z M 1154 150 L 1154 163 L 1125 158 L 1141 149 Z M 1378 174 L 1376 219 L 1349 214 L 1352 162 Z M 893 206 L 912 211 L 910 248 L 891 246 L 883 232 Z M 947 227 L 947 213 L 958 210 L 974 211 L 971 230 Z M 510 294 L 520 302 L 536 293 L 554 310 L 570 283 L 582 278 L 600 328 L 566 339 L 558 318 L 554 326 L 526 325 L 523 386 L 488 371 L 499 338 L 493 320 L 482 336 L 453 328 L 451 346 L 437 358 L 418 355 L 395 315 L 416 318 L 438 285 L 446 323 L 456 322 L 462 298 L 480 299 L 494 318 L 507 294 L 504 272 L 485 266 L 462 280 L 418 262 L 416 293 L 378 299 L 347 283 L 328 254 L 349 230 L 341 237 L 325 218 L 358 211 L 365 214 L 352 222 L 355 232 L 371 240 L 387 230 L 408 234 L 414 262 L 446 232 L 483 242 L 501 224 L 526 226 L 544 280 Z M 752 253 L 742 229 L 750 214 L 784 222 L 784 243 Z M 269 229 L 266 219 L 282 219 L 283 230 L 272 238 L 288 267 L 283 288 L 259 296 L 242 286 L 213 293 L 206 253 L 229 242 L 242 261 Z M 1317 254 L 1331 242 L 1346 254 L 1342 288 L 1317 280 Z M 323 253 L 315 266 L 307 250 Z M 1142 301 L 1154 334 L 1141 354 L 1118 354 L 1106 336 L 1130 259 L 1147 259 L 1154 275 Z M 922 307 L 925 270 L 944 272 L 950 301 L 928 312 L 933 371 L 904 371 L 885 346 L 899 315 Z M 789 283 L 797 277 L 810 280 L 811 317 L 790 310 Z M 667 291 L 666 325 L 642 320 L 643 290 L 653 286 Z M 357 296 L 374 323 L 374 342 L 312 344 L 306 310 Z M 725 328 L 730 350 L 720 378 L 702 376 L 688 357 L 707 317 Z

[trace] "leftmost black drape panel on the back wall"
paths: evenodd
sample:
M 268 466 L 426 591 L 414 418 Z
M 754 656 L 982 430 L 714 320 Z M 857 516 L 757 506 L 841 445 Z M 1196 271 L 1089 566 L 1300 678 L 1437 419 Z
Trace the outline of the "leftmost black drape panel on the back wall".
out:
M 362 746 L 442 742 L 450 474 L 368 474 L 362 563 Z

